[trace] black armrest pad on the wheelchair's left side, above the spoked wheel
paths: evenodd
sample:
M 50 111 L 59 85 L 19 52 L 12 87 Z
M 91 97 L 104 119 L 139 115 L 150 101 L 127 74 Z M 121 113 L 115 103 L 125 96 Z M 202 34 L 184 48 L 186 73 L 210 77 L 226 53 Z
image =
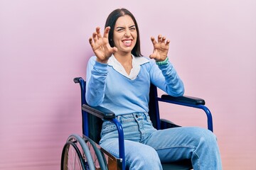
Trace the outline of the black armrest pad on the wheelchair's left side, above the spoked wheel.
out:
M 112 120 L 115 118 L 115 114 L 108 110 L 107 108 L 103 108 L 101 106 L 92 107 L 88 104 L 82 105 L 82 111 L 86 111 L 87 113 L 90 113 L 92 115 L 97 116 L 98 118 L 104 119 L 104 120 Z

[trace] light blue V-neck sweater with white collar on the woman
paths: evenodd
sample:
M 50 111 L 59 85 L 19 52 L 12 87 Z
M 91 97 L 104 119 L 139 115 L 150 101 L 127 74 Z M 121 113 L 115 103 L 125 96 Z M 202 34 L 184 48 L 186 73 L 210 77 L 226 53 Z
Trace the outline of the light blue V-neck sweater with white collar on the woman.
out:
M 85 98 L 90 106 L 102 106 L 116 115 L 147 113 L 149 87 L 154 84 L 171 96 L 182 96 L 184 86 L 171 62 L 158 66 L 147 57 L 132 58 L 132 70 L 127 74 L 114 56 L 107 64 L 87 63 Z

